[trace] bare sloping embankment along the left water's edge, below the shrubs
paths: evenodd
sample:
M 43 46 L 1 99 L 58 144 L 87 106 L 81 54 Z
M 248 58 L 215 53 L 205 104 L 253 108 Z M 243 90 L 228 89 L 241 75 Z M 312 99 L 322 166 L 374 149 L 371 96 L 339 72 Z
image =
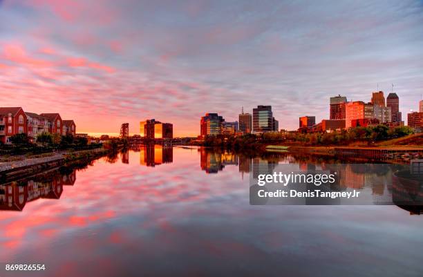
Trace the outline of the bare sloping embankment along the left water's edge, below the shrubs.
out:
M 0 164 L 0 180 L 15 180 L 28 175 L 33 175 L 55 169 L 60 166 L 78 162 L 80 160 L 95 160 L 109 153 L 106 149 L 91 149 L 83 151 L 71 151 L 67 153 L 56 153 L 47 157 L 36 157 L 15 162 Z

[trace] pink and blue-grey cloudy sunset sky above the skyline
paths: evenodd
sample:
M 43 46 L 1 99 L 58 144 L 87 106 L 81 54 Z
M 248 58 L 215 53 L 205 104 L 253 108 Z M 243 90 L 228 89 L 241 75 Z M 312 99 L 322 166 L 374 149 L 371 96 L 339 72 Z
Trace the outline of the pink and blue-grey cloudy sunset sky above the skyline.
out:
M 200 133 L 272 105 L 279 128 L 328 119 L 329 97 L 423 93 L 422 1 L 0 0 L 0 106 L 75 120 L 77 133 L 129 122 Z

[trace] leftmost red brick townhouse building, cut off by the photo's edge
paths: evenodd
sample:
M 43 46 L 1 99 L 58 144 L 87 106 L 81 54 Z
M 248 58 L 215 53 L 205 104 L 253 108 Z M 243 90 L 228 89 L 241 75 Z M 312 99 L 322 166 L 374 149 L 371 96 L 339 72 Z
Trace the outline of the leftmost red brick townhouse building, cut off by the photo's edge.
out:
M 21 107 L 0 107 L 0 142 L 10 143 L 10 137 L 27 133 L 27 118 Z

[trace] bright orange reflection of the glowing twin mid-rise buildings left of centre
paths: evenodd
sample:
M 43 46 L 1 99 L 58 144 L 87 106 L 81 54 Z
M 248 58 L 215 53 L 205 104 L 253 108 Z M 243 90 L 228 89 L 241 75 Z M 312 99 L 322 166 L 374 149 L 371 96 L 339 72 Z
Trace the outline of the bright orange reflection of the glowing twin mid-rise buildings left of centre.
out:
M 156 166 L 173 162 L 173 147 L 162 145 L 141 145 L 140 164 L 144 166 Z

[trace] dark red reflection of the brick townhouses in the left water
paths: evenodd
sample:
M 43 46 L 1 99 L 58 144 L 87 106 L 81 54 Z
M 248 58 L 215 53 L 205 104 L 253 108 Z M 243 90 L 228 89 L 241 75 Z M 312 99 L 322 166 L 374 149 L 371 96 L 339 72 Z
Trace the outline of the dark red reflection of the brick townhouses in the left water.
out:
M 44 178 L 43 178 L 44 179 Z M 75 170 L 68 175 L 56 173 L 48 182 L 26 180 L 0 184 L 0 210 L 22 211 L 27 202 L 38 199 L 59 199 L 64 185 L 73 185 Z

